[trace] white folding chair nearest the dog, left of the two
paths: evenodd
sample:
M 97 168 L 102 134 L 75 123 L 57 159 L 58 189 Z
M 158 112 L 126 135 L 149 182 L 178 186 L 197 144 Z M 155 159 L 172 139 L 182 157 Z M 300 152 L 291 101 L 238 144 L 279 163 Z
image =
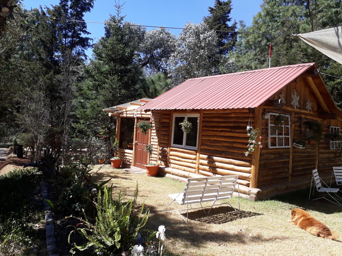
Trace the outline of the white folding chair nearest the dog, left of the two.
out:
M 327 199 L 328 201 L 330 201 L 330 202 L 332 202 L 334 204 L 342 206 L 342 203 L 341 203 L 342 202 L 342 198 L 337 195 L 337 192 L 339 191 L 339 189 L 338 188 L 330 188 L 330 187 L 328 187 L 328 185 L 323 180 L 321 180 L 319 178 L 317 169 L 312 170 L 312 179 L 311 179 L 309 200 L 310 200 L 310 196 L 311 196 L 312 181 L 315 181 L 315 187 L 316 187 L 317 192 L 324 193 L 323 196 L 315 198 L 315 199 L 312 199 L 312 200 L 324 198 L 324 199 Z M 322 183 L 324 183 L 324 185 L 326 187 L 323 187 Z M 315 191 L 315 188 L 312 191 L 312 195 L 314 195 L 314 191 Z M 331 193 L 335 193 L 334 195 L 336 195 L 336 197 L 338 197 L 339 199 L 333 197 Z M 326 196 L 329 196 L 329 198 L 326 198 Z

